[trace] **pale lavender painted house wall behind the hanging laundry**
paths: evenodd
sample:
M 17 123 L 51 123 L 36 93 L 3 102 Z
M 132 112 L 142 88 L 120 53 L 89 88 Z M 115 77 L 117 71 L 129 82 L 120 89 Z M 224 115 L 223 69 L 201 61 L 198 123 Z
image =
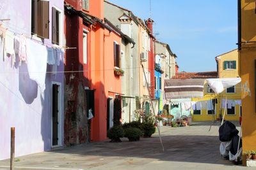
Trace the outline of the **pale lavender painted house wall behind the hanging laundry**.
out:
M 51 0 L 49 3 L 49 39 L 45 39 L 44 45 L 52 46 L 52 6 L 56 6 L 62 12 L 62 48 L 65 41 L 63 34 L 64 10 L 61 0 Z M 0 21 L 4 27 L 31 38 L 30 0 L 1 0 L 0 11 L 0 19 L 10 18 L 10 21 Z M 61 85 L 60 124 L 61 144 L 63 145 L 63 70 L 63 61 L 61 61 L 58 66 L 60 73 L 46 74 L 46 89 L 44 97 L 42 97 L 37 83 L 29 78 L 27 65 L 16 63 L 13 67 L 11 59 L 7 58 L 3 61 L 3 53 L 0 53 L 0 160 L 10 158 L 10 127 L 15 127 L 15 156 L 51 150 L 52 82 L 58 82 Z M 47 71 L 51 71 L 51 66 L 48 64 Z

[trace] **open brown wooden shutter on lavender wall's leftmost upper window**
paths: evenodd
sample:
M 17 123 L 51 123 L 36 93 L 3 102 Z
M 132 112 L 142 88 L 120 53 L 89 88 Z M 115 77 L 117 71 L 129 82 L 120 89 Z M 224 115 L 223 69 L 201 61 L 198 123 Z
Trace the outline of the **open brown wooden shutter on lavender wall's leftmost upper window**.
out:
M 37 0 L 37 34 L 49 38 L 49 1 Z

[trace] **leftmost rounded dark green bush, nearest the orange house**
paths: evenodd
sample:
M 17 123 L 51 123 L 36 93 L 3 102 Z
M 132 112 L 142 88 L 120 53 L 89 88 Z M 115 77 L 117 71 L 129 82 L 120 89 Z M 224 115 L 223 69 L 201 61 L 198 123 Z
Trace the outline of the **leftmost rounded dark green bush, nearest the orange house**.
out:
M 114 125 L 108 130 L 107 136 L 111 139 L 111 142 L 120 142 L 120 138 L 124 137 L 124 129 L 120 125 Z

